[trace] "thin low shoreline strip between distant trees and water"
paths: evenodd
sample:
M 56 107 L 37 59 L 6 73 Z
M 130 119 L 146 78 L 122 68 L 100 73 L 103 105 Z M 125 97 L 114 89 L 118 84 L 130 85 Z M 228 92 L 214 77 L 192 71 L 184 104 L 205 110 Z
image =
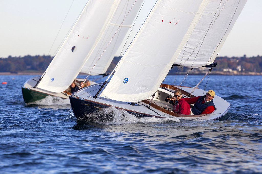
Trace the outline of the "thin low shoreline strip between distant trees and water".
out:
M 0 72 L 0 75 L 42 75 L 43 72 L 19 72 L 19 73 L 10 73 L 10 72 Z M 178 73 L 178 75 L 186 75 L 187 72 Z M 85 75 L 85 74 L 80 74 Z M 176 74 L 168 74 L 168 75 L 176 75 Z M 204 73 L 192 73 L 189 75 L 204 75 Z M 239 73 L 232 73 L 232 72 L 223 72 L 223 71 L 213 71 L 211 75 L 262 75 L 262 73 L 256 72 L 239 72 Z

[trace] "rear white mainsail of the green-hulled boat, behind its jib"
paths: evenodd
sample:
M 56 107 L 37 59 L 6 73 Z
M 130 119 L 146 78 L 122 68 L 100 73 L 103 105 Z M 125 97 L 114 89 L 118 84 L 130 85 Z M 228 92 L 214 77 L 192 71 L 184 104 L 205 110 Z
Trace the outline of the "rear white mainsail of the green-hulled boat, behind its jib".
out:
M 103 39 L 99 41 L 80 72 L 88 74 L 90 70 L 92 70 L 90 75 L 98 75 L 106 72 L 114 56 L 116 56 L 116 52 L 119 49 L 119 46 L 121 45 L 125 35 L 131 29 L 134 18 L 136 17 L 142 3 L 142 0 L 123 0 L 119 3 L 116 13 L 113 15 L 109 25 L 105 30 L 106 32 L 104 32 L 102 36 Z M 119 28 L 120 25 L 121 27 Z M 111 40 L 116 31 L 117 34 Z M 97 62 L 98 59 L 99 61 Z

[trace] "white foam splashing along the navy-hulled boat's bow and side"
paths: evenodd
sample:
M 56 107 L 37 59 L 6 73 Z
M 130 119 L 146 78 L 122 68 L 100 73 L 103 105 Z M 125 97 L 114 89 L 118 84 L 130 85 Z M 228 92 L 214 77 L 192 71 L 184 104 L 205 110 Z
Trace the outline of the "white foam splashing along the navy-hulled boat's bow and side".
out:
M 85 120 L 105 125 L 131 124 L 131 123 L 158 123 L 166 121 L 180 122 L 178 118 L 156 118 L 156 117 L 138 117 L 130 114 L 123 109 L 107 107 L 97 110 L 94 113 L 86 114 Z

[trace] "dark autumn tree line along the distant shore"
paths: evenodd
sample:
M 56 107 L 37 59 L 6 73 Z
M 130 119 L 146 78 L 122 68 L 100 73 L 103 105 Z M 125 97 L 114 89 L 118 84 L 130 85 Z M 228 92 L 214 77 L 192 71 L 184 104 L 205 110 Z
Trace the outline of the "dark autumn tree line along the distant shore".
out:
M 0 58 L 0 72 L 43 72 L 46 70 L 53 57 L 46 55 L 26 55 L 19 57 L 8 56 L 7 58 Z M 120 57 L 115 57 L 108 68 L 108 72 L 111 72 Z M 246 57 L 217 57 L 215 62 L 218 63 L 214 71 L 238 71 L 238 72 L 262 72 L 262 56 Z M 179 68 L 179 72 L 187 72 L 188 68 Z M 198 70 L 198 68 L 195 69 Z M 174 67 L 170 70 L 169 74 L 176 74 L 178 72 L 178 67 Z

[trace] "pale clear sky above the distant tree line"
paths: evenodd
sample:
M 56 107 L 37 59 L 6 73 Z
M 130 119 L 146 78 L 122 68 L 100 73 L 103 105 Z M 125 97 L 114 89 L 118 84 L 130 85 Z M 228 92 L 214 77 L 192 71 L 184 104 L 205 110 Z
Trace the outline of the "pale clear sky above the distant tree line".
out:
M 0 58 L 54 56 L 87 1 L 0 0 Z M 247 1 L 218 56 L 262 56 L 261 7 Z

